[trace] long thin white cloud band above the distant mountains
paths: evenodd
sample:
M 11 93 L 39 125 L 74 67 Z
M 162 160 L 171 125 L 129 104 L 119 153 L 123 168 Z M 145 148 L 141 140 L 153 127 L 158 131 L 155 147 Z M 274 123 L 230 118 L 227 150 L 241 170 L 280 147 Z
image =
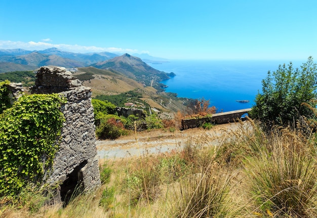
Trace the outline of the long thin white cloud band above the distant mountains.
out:
M 43 41 L 10 41 L 10 40 L 0 40 L 0 49 L 25 49 L 25 50 L 45 50 L 49 48 L 57 48 L 62 51 L 76 52 L 76 53 L 90 53 L 90 52 L 111 52 L 111 53 L 140 53 L 136 49 L 123 49 L 123 48 L 103 48 L 96 46 L 80 46 L 80 45 L 67 45 L 67 44 L 54 44 L 49 43 L 47 39 Z M 141 53 L 147 53 L 147 51 L 142 51 Z

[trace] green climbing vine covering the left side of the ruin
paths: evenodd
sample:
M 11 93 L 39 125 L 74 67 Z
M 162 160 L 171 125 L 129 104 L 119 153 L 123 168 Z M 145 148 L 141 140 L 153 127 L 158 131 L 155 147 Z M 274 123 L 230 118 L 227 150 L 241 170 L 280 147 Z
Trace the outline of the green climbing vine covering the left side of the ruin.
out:
M 0 196 L 41 181 L 58 149 L 64 103 L 57 94 L 23 96 L 0 114 Z

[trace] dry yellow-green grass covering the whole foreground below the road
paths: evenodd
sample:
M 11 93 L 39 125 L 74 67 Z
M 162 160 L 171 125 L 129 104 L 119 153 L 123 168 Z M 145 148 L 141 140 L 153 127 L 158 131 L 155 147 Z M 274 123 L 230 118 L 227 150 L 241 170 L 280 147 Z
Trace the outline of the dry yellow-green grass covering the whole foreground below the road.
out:
M 25 189 L 0 199 L 0 217 L 317 217 L 314 135 L 240 128 L 217 145 L 202 135 L 170 153 L 105 160 L 103 185 L 65 208 Z

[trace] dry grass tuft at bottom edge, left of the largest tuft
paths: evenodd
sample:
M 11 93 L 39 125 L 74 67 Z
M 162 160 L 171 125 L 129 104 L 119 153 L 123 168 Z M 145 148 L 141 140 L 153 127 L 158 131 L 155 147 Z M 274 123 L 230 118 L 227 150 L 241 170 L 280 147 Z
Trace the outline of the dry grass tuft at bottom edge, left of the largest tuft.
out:
M 214 163 L 213 163 L 214 164 Z M 233 217 L 230 173 L 216 165 L 174 185 L 168 217 Z

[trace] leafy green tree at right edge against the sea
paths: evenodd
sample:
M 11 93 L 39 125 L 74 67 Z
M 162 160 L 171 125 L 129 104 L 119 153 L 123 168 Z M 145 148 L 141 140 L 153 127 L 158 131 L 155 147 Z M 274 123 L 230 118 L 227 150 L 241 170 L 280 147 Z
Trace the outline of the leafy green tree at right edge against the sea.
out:
M 316 107 L 317 65 L 309 57 L 300 69 L 279 65 L 276 71 L 267 72 L 262 80 L 262 93 L 255 99 L 250 116 L 261 121 L 266 129 L 273 125 L 294 127 L 300 116 L 315 118 L 311 108 Z M 308 106 L 308 107 L 307 107 Z

